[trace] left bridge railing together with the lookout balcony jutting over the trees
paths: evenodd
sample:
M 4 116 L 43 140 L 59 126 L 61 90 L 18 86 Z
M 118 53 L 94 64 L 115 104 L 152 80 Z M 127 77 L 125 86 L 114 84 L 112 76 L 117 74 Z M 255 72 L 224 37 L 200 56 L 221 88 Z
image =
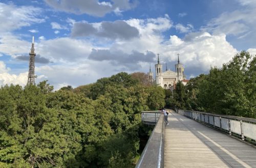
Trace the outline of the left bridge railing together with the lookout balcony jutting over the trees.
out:
M 164 167 L 163 114 L 161 114 L 161 111 L 142 111 L 141 119 L 145 124 L 153 125 L 153 123 L 155 123 L 156 126 L 136 164 L 136 168 Z

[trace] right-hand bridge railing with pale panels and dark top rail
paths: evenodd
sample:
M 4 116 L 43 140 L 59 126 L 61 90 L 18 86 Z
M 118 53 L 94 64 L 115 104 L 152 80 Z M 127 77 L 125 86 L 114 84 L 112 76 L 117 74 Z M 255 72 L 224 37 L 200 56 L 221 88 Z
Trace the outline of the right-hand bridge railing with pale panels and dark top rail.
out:
M 177 109 L 177 113 L 256 144 L 256 119 Z

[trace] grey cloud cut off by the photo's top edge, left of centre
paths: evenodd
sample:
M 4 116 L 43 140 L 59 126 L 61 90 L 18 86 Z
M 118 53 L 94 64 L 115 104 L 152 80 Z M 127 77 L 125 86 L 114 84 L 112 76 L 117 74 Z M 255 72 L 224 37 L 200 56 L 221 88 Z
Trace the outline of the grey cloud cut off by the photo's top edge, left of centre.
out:
M 116 11 L 118 8 L 121 10 L 129 10 L 135 8 L 137 1 L 130 3 L 129 0 L 112 0 L 111 2 L 99 2 L 97 0 L 60 0 L 60 1 L 51 1 L 45 0 L 45 2 L 60 11 L 65 11 L 75 14 L 89 14 L 92 16 L 102 17 L 107 13 Z

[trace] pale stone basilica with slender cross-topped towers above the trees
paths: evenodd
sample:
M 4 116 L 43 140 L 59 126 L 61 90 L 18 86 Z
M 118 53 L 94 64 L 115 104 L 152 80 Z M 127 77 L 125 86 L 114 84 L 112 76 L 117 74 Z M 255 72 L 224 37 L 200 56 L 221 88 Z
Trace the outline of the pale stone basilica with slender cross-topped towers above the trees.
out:
M 148 80 L 150 80 L 150 82 L 155 83 L 156 85 L 161 86 L 164 89 L 171 89 L 175 87 L 178 81 L 182 81 L 183 84 L 186 85 L 187 80 L 185 80 L 186 76 L 184 75 L 184 67 L 182 64 L 180 64 L 179 54 L 178 54 L 178 64 L 175 65 L 175 72 L 171 70 L 167 70 L 167 66 L 166 66 L 166 70 L 163 72 L 163 66 L 162 64 L 159 63 L 159 54 L 158 54 L 157 64 L 155 65 L 155 69 L 156 69 L 155 80 L 153 78 L 154 74 L 151 71 L 151 67 L 150 67 L 150 72 L 147 73 Z

